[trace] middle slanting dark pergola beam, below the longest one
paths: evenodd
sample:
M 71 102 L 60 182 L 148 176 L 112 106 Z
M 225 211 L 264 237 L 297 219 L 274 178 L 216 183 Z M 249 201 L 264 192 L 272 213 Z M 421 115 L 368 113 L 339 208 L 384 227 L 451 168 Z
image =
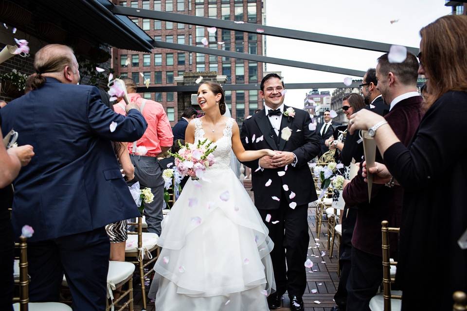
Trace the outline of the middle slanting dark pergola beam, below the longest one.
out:
M 262 55 L 256 55 L 256 54 L 247 54 L 247 53 L 240 53 L 240 52 L 195 47 L 195 46 L 186 45 L 186 44 L 154 41 L 154 47 L 187 51 L 187 52 L 196 52 L 196 53 L 203 53 L 203 54 L 211 54 L 211 55 L 217 55 L 217 56 L 225 56 L 225 57 L 231 57 L 231 58 L 237 58 L 237 59 L 245 59 L 245 60 L 250 60 L 250 61 L 260 62 L 260 63 L 269 63 L 269 64 L 289 66 L 289 67 L 298 67 L 298 68 L 304 68 L 304 69 L 340 73 L 340 74 L 345 74 L 345 75 L 355 76 L 355 77 L 363 77 L 365 75 L 365 71 L 361 71 L 361 70 L 346 69 L 346 68 L 319 65 L 319 64 L 311 64 L 311 63 L 305 63 L 305 62 L 299 62 L 299 61 L 275 58 L 275 57 L 268 57 L 268 56 L 262 56 Z

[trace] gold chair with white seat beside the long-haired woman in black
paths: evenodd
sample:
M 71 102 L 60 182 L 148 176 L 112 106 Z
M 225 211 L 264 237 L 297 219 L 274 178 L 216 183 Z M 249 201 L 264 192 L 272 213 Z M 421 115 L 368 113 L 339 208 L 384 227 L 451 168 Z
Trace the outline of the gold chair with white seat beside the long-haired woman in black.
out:
M 386 220 L 381 222 L 383 293 L 377 294 L 371 298 L 370 309 L 372 311 L 398 311 L 402 306 L 402 292 L 391 291 L 391 283 L 395 281 L 394 277 L 391 276 L 391 266 L 397 265 L 397 262 L 389 259 L 389 233 L 399 233 L 399 228 L 388 227 L 388 224 Z

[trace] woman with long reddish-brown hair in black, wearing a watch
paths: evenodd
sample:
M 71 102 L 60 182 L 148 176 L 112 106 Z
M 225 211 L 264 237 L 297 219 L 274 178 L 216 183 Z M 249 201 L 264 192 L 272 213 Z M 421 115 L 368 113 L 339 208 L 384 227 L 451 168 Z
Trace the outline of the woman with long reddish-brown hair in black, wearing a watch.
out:
M 396 282 L 402 310 L 452 310 L 454 291 L 467 292 L 467 16 L 445 16 L 422 28 L 419 74 L 427 78 L 425 115 L 408 147 L 387 124 L 375 140 L 387 166 L 369 169 L 374 182 L 404 187 Z M 383 118 L 362 110 L 350 130 Z M 365 169 L 366 175 L 366 169 Z

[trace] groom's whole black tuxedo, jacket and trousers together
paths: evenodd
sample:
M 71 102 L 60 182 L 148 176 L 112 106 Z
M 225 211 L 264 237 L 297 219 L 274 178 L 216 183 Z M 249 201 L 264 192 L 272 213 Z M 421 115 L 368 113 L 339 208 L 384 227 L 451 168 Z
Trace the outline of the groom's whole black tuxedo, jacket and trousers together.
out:
M 284 105 L 284 110 L 287 108 Z M 258 208 L 263 222 L 269 229 L 269 237 L 274 242 L 271 259 L 276 293 L 279 295 L 287 290 L 289 296 L 301 297 L 306 289 L 304 262 L 310 239 L 307 222 L 308 203 L 317 199 L 307 162 L 320 153 L 320 138 L 315 131 L 310 131 L 310 122 L 307 112 L 295 109 L 294 118 L 282 116 L 277 136 L 263 109 L 243 122 L 240 133 L 245 150 L 288 151 L 294 153 L 298 160 L 295 167 L 288 165 L 287 171 L 285 167 L 255 171 L 259 166 L 258 160 L 243 162 L 251 168 L 254 205 Z M 288 141 L 280 138 L 285 127 L 292 130 Z M 269 179 L 271 183 L 266 187 Z M 284 189 L 285 185 L 288 188 Z M 295 197 L 292 195 L 291 198 L 292 192 L 295 193 Z M 292 202 L 297 205 L 291 207 L 289 204 Z M 265 221 L 268 214 L 271 217 L 269 222 Z

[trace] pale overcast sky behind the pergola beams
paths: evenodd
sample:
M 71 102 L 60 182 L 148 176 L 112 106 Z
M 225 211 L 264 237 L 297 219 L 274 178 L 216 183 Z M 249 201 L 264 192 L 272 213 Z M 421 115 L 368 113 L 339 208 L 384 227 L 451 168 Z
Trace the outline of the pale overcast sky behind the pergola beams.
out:
M 450 13 L 444 0 L 265 0 L 268 26 L 419 47 L 419 30 Z M 391 20 L 398 19 L 391 24 Z M 366 71 L 382 53 L 267 37 L 267 56 Z M 343 82 L 345 75 L 268 64 L 284 82 Z M 361 79 L 359 77 L 354 77 Z M 343 86 L 343 84 L 342 84 Z M 321 90 L 321 89 L 320 89 Z M 303 108 L 309 89 L 287 90 L 285 104 Z

